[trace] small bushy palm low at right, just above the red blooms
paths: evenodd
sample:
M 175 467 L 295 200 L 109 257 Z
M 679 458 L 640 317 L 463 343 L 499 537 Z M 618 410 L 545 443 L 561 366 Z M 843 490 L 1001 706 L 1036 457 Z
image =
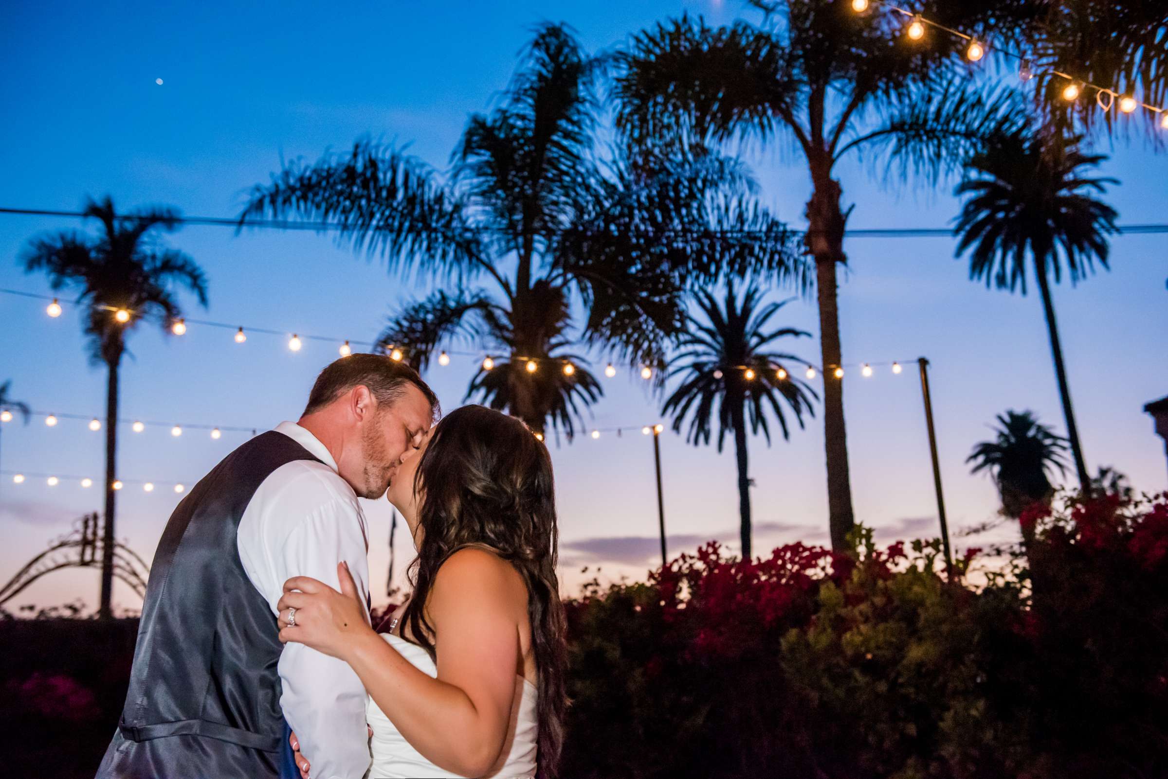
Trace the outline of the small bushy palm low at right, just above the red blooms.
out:
M 1002 499 L 1002 513 L 1017 519 L 1034 503 L 1050 503 L 1054 470 L 1066 473 L 1065 438 L 1038 422 L 1034 412 L 1007 410 L 997 415 L 997 437 L 982 441 L 966 457 L 971 473 L 986 471 L 994 478 Z M 1028 528 L 1023 528 L 1026 532 Z M 1029 546 L 1030 539 L 1027 539 Z

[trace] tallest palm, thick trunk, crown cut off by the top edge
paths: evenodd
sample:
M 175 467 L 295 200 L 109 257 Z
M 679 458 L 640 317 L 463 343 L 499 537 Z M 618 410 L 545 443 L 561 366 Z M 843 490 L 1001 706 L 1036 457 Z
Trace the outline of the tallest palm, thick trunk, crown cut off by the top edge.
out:
M 835 164 L 853 152 L 883 153 L 901 162 L 902 177 L 922 171 L 936 180 L 1021 114 L 1010 111 L 1009 90 L 971 91 L 959 42 L 948 35 L 910 42 L 899 16 L 856 14 L 840 0 L 751 5 L 764 12 L 759 26 L 712 28 L 682 16 L 635 35 L 617 55 L 617 125 L 638 147 L 696 153 L 785 135 L 783 148 L 802 154 L 812 184 L 805 247 L 816 269 L 832 546 L 843 550 L 854 515 L 842 381 L 832 369 L 842 364 L 836 266 L 847 262 L 844 225 L 854 206 L 841 203 Z M 910 5 L 975 34 L 990 20 L 1001 30 L 1031 13 L 1009 0 Z

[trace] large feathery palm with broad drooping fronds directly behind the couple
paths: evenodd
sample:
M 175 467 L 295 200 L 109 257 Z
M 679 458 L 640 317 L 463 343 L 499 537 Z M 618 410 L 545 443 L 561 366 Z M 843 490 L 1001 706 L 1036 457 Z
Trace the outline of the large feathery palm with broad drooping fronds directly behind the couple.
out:
M 684 321 L 687 285 L 722 271 L 693 260 L 694 246 L 714 237 L 718 208 L 753 213 L 767 239 L 725 238 L 742 268 L 783 274 L 798 265 L 773 248 L 785 229 L 743 199 L 750 188 L 736 163 L 598 159 L 597 75 L 565 27 L 544 24 L 501 106 L 470 119 L 449 181 L 360 141 L 346 156 L 285 166 L 252 191 L 241 224 L 264 215 L 329 220 L 341 240 L 391 269 L 452 281 L 450 292 L 402 309 L 380 341 L 418 369 L 444 343 L 471 341 L 498 362 L 479 371 L 468 396 L 541 435 L 550 420 L 571 436 L 602 388 L 565 350 L 582 343 L 633 365 L 660 364 Z M 573 334 L 576 304 L 585 321 Z

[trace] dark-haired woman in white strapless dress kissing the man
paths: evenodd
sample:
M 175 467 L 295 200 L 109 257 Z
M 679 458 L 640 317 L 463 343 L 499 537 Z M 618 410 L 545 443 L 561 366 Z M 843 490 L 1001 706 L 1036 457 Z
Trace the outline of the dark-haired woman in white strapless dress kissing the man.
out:
M 548 450 L 519 420 L 464 406 L 403 461 L 388 498 L 418 557 L 389 632 L 369 627 L 342 563 L 341 592 L 308 577 L 285 583 L 280 640 L 361 678 L 371 777 L 551 776 L 566 654 Z M 297 763 L 307 774 L 299 753 Z

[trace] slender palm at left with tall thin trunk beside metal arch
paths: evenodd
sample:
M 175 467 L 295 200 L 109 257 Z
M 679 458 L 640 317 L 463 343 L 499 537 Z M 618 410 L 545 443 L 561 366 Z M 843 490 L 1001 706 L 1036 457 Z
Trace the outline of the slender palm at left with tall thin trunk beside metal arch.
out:
M 99 615 L 110 617 L 113 584 L 113 520 L 118 451 L 118 367 L 126 351 L 126 336 L 144 320 L 169 331 L 182 317 L 175 292 L 186 288 L 207 306 L 207 280 L 194 260 L 166 248 L 154 239 L 158 231 L 171 232 L 179 215 L 155 208 L 119 215 L 113 202 L 90 199 L 85 217 L 102 223 L 98 238 L 78 232 L 58 232 L 29 241 L 21 255 L 28 273 L 44 272 L 53 289 L 72 288 L 77 301 L 89 306 L 84 332 L 90 358 L 109 370 L 105 403 L 105 532 L 102 546 L 102 604 Z

